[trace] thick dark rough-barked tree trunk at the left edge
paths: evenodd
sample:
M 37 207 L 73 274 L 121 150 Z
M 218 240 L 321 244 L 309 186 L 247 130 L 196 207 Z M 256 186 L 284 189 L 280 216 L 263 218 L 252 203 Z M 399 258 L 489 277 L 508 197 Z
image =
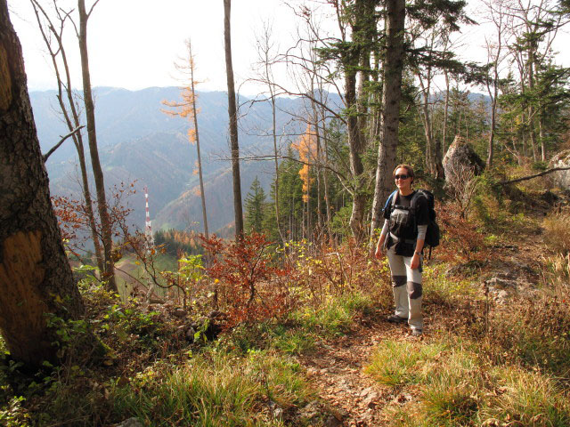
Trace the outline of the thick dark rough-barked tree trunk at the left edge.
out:
M 78 318 L 75 286 L 50 202 L 20 41 L 0 0 L 0 331 L 12 358 L 57 360 L 47 313 Z

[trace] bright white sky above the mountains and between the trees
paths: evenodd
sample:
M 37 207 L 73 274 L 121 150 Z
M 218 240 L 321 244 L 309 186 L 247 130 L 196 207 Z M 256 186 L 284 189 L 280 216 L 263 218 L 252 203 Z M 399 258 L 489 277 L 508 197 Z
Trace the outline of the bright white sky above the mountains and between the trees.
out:
M 58 0 L 76 7 L 75 0 Z M 301 0 L 289 0 L 299 4 Z M 44 3 L 48 3 L 45 1 Z M 93 0 L 86 0 L 87 7 Z M 206 80 L 199 90 L 226 90 L 224 60 L 224 8 L 222 0 L 101 0 L 88 25 L 89 61 L 94 86 L 124 87 L 130 90 L 149 86 L 179 85 L 174 61 L 184 53 L 184 39 L 191 37 L 198 66 L 198 78 Z M 472 10 L 479 0 L 471 0 Z M 28 0 L 8 0 L 12 23 L 24 51 L 30 90 L 53 88 L 51 62 Z M 251 76 L 256 60 L 255 34 L 260 23 L 272 22 L 273 34 L 281 47 L 291 45 L 297 20 L 283 0 L 232 0 L 232 52 L 236 83 Z M 334 21 L 326 24 L 334 28 Z M 461 56 L 485 60 L 482 27 L 462 30 Z M 66 28 L 70 62 L 79 64 L 72 26 Z M 562 62 L 570 63 L 570 37 L 560 35 L 558 51 Z M 566 53 L 565 53 L 566 51 Z M 567 58 L 566 58 L 567 57 Z M 81 80 L 76 68 L 74 85 Z M 256 88 L 245 86 L 242 93 Z

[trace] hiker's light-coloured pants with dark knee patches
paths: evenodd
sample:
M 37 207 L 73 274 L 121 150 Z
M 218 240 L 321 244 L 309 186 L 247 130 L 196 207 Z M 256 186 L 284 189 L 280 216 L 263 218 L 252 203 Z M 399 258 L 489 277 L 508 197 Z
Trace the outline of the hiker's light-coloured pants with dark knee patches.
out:
M 421 316 L 421 258 L 419 268 L 411 270 L 411 256 L 395 254 L 395 245 L 387 251 L 388 264 L 392 273 L 395 315 L 408 318 L 411 329 L 422 330 L 424 319 Z M 405 286 L 404 286 L 405 285 Z

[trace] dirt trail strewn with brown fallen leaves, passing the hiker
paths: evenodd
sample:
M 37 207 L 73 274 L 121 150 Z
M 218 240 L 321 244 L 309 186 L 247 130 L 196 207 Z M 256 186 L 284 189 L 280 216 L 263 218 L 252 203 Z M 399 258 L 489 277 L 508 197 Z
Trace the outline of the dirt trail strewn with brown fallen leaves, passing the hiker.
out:
M 513 282 L 509 296 L 528 287 L 536 286 L 540 280 L 537 270 L 541 255 L 545 253 L 542 236 L 525 233 L 509 243 L 496 246 L 497 256 L 489 260 L 478 278 L 482 283 L 485 278 L 501 277 L 508 274 Z M 493 254 L 494 255 L 494 254 Z M 428 325 L 426 334 L 420 340 L 429 339 L 429 329 L 442 326 L 453 328 L 457 321 L 458 307 L 436 307 L 427 304 L 424 318 Z M 319 388 L 321 399 L 330 407 L 332 416 L 324 424 L 326 427 L 372 427 L 386 425 L 382 419 L 382 409 L 390 402 L 404 404 L 414 399 L 408 393 L 395 394 L 389 387 L 382 387 L 368 375 L 364 367 L 370 363 L 371 353 L 380 342 L 391 340 L 418 340 L 410 336 L 406 325 L 392 325 L 386 317 L 390 313 L 375 313 L 365 321 L 357 322 L 354 330 L 343 337 L 330 341 L 317 342 L 316 350 L 300 358 L 307 375 Z M 446 324 L 444 326 L 444 324 Z

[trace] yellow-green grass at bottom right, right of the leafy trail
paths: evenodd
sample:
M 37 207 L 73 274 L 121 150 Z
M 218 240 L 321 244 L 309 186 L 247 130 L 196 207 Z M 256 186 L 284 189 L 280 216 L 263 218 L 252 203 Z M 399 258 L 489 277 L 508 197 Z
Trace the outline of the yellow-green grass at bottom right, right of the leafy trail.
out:
M 366 372 L 415 395 L 404 405 L 385 407 L 387 425 L 570 425 L 570 396 L 556 379 L 521 367 L 493 367 L 478 349 L 478 343 L 450 339 L 380 344 Z

